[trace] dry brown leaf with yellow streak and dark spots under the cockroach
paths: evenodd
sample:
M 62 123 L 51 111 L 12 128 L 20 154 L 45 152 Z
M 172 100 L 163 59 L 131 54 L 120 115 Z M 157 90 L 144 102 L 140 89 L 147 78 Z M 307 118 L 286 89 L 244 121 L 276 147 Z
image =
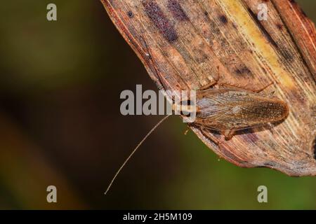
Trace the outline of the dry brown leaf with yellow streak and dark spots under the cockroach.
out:
M 260 89 L 289 104 L 272 132 L 237 133 L 215 153 L 240 167 L 270 167 L 291 176 L 316 175 L 315 26 L 288 0 L 101 0 L 114 25 L 160 89 L 198 89 L 214 80 Z M 257 19 L 258 4 L 268 20 Z M 314 77 L 314 78 L 313 78 Z

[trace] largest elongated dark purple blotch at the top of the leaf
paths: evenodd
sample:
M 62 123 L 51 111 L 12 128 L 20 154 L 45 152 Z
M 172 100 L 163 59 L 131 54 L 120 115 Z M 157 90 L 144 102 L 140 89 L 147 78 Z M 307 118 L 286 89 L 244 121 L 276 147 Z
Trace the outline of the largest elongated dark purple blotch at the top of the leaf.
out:
M 174 29 L 171 22 L 166 18 L 162 9 L 159 8 L 158 4 L 153 0 L 143 0 L 143 6 L 145 7 L 145 13 L 148 15 L 150 20 L 159 29 L 159 32 L 166 38 L 170 43 L 178 39 L 178 34 Z

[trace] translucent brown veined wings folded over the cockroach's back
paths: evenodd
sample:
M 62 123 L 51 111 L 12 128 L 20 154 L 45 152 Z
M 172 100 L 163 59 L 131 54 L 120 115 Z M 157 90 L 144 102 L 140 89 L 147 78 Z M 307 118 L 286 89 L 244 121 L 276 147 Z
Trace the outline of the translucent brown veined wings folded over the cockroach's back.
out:
M 243 130 L 284 119 L 288 106 L 279 99 L 244 90 L 210 89 L 197 93 L 196 124 L 213 130 Z

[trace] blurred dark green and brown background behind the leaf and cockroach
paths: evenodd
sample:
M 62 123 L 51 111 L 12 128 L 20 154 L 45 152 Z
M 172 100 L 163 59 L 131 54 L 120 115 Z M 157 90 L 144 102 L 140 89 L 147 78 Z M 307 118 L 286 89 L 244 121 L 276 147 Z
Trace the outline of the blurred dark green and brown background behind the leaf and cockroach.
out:
M 298 3 L 316 21 L 316 1 Z M 119 94 L 157 87 L 100 1 L 3 1 L 0 13 L 0 209 L 316 209 L 315 178 L 218 160 L 175 116 L 104 196 L 160 119 L 121 116 Z M 58 203 L 46 202 L 49 185 Z

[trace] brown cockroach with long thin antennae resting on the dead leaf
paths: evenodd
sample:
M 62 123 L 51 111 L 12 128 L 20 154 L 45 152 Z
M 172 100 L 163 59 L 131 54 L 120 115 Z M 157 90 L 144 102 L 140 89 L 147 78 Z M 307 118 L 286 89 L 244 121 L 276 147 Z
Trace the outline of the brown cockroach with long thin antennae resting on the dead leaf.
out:
M 150 52 L 146 42 L 145 46 L 148 52 Z M 152 59 L 152 54 L 147 53 L 146 55 L 149 55 L 150 59 Z M 152 66 L 154 67 L 157 76 L 160 78 L 154 62 L 152 62 Z M 286 118 L 289 114 L 289 106 L 286 102 L 277 99 L 276 97 L 260 93 L 272 83 L 260 90 L 249 90 L 225 83 L 218 84 L 218 80 L 219 69 L 216 80 L 213 80 L 213 82 L 208 85 L 204 85 L 204 87 L 196 90 L 195 105 L 190 105 L 187 101 L 187 103 L 185 103 L 187 106 L 183 106 L 182 102 L 180 102 L 181 105 L 173 105 L 173 108 L 179 108 L 180 106 L 183 112 L 186 111 L 190 113 L 190 111 L 192 111 L 191 106 L 195 106 L 196 118 L 193 123 L 190 123 L 190 125 L 199 127 L 200 130 L 207 135 L 207 137 L 211 138 L 211 140 L 219 146 L 220 141 L 211 136 L 211 134 L 207 134 L 208 132 L 206 132 L 206 130 L 218 131 L 224 135 L 225 141 L 229 141 L 238 130 L 271 125 L 272 123 L 284 120 L 284 118 Z M 218 84 L 218 87 L 214 88 L 216 84 Z M 140 141 L 138 146 L 136 146 L 114 175 L 110 185 L 105 191 L 105 195 L 110 190 L 112 183 L 121 169 L 137 151 L 139 146 L 143 144 L 143 141 L 145 141 L 145 139 L 147 139 L 147 137 L 169 116 L 170 115 L 165 116 L 162 120 L 160 120 L 159 123 L 157 123 L 157 125 L 155 125 L 152 130 L 147 133 L 143 140 Z

